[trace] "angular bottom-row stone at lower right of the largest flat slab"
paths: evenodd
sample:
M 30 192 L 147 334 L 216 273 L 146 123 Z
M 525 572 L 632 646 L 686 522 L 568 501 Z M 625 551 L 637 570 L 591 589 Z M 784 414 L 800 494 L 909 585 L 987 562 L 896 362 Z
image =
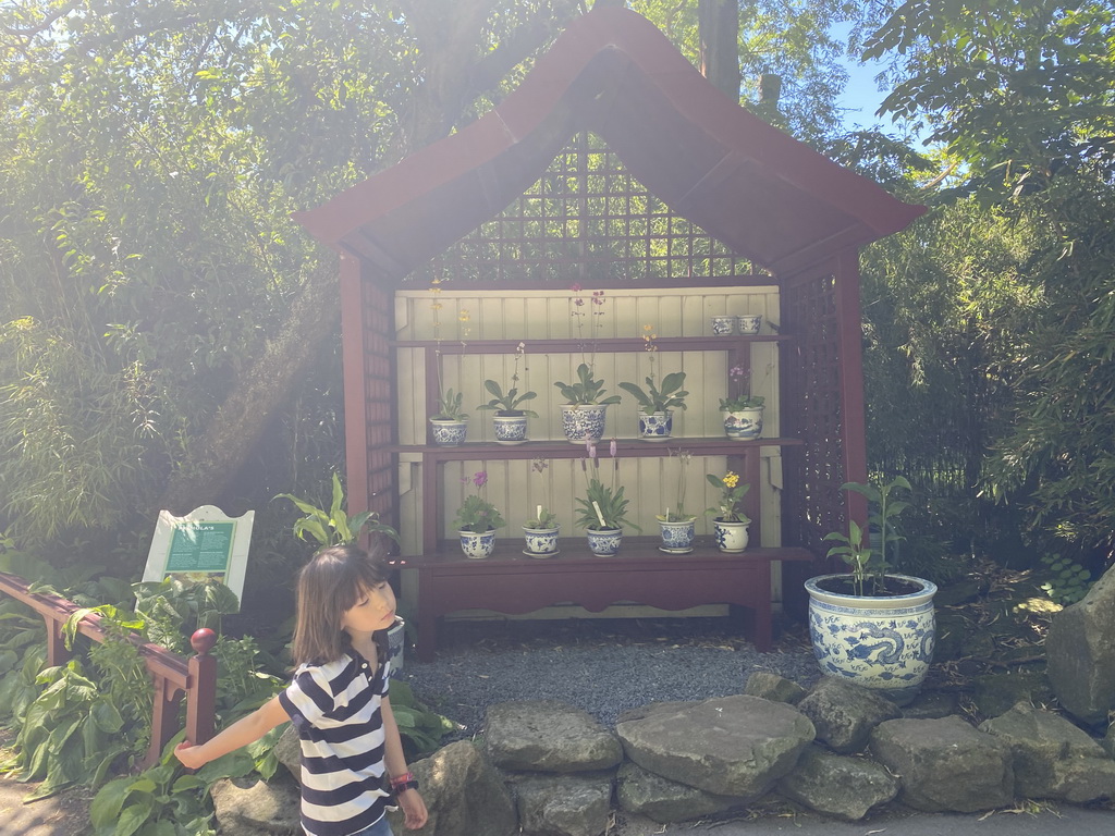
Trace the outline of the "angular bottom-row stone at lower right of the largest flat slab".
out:
M 818 746 L 806 749 L 794 771 L 778 781 L 778 793 L 789 800 L 849 822 L 894 800 L 901 787 L 873 760 L 833 755 Z

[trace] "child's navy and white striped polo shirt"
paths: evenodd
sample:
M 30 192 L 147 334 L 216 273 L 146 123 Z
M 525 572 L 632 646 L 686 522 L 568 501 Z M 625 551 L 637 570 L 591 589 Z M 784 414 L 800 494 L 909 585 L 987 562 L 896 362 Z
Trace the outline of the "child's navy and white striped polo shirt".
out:
M 388 665 L 375 672 L 355 651 L 328 664 L 302 664 L 279 694 L 302 742 L 302 828 L 350 836 L 384 815 L 384 718 Z

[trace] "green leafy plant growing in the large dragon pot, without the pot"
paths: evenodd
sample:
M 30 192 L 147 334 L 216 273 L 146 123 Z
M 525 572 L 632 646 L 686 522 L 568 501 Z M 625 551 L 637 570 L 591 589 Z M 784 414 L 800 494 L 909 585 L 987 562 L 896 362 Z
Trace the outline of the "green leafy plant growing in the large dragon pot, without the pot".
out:
M 902 539 L 894 523 L 898 516 L 910 507 L 910 503 L 891 497 L 891 494 L 900 488 L 911 490 L 910 483 L 902 476 L 895 476 L 885 485 L 847 482 L 841 486 L 841 490 L 854 490 L 869 502 L 866 532 L 854 519 L 849 519 L 847 534 L 830 532 L 824 537 L 842 544 L 830 548 L 827 556 L 838 556 L 847 564 L 856 595 L 885 594 L 886 572 L 890 570 L 886 545 Z M 864 542 L 864 535 L 871 531 L 879 534 L 878 550 L 872 546 L 870 536 Z

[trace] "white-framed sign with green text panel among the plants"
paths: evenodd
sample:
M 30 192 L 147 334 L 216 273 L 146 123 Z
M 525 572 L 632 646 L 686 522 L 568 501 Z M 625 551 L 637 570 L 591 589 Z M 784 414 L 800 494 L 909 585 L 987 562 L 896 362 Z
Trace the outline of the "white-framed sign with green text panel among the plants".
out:
M 161 511 L 143 580 L 220 581 L 239 600 L 244 592 L 254 519 L 254 511 L 230 517 L 212 505 L 203 505 L 184 517 Z

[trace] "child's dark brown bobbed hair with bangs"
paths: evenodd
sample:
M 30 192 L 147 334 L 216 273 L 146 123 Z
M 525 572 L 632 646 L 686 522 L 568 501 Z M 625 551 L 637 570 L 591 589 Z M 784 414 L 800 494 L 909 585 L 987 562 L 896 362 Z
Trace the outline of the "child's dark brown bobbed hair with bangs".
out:
M 291 655 L 295 667 L 324 664 L 349 649 L 341 616 L 360 596 L 388 580 L 390 567 L 377 551 L 356 545 L 323 548 L 298 573 L 298 619 Z M 378 642 L 377 642 L 378 643 Z

